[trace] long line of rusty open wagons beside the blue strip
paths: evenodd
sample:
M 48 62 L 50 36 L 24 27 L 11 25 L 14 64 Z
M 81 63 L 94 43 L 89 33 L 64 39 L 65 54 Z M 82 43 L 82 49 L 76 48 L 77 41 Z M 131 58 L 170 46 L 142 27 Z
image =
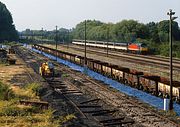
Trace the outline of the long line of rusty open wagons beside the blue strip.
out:
M 51 55 L 71 61 L 75 64 L 84 65 L 84 57 L 64 51 L 56 51 L 42 45 L 33 45 L 33 48 Z M 155 96 L 169 98 L 170 85 L 167 78 L 139 72 L 133 69 L 112 65 L 98 60 L 86 59 L 87 67 L 107 77 L 115 79 L 120 83 L 152 93 Z M 173 100 L 180 103 L 180 82 L 173 81 Z

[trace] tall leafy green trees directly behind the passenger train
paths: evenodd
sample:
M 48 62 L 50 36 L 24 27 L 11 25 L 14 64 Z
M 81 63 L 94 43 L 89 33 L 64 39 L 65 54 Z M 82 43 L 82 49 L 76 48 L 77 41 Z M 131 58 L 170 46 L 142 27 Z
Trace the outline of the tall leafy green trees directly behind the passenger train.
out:
M 72 31 L 73 37 L 83 38 L 84 22 L 77 24 Z M 180 29 L 178 23 L 173 21 L 173 40 L 180 40 Z M 87 20 L 87 38 L 90 40 L 106 41 L 109 34 L 109 40 L 115 42 L 133 42 L 138 39 L 145 39 L 151 42 L 167 42 L 169 39 L 169 21 L 163 20 L 158 23 L 150 22 L 147 24 L 139 23 L 135 20 L 123 20 L 116 24 L 103 23 L 96 20 Z

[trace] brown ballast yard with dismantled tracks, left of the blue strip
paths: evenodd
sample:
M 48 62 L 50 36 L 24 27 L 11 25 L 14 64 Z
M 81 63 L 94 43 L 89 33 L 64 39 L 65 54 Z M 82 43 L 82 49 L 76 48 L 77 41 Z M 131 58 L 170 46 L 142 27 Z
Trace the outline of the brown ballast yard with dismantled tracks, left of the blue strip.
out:
M 60 47 L 58 48 L 60 49 Z M 80 71 L 75 71 L 66 65 L 52 61 L 41 53 L 33 52 L 22 46 L 15 47 L 15 51 L 16 59 L 18 61 L 23 60 L 29 68 L 25 69 L 30 78 L 27 81 L 36 80 L 36 82 L 43 84 L 41 99 L 47 101 L 51 108 L 56 110 L 55 117 L 68 114 L 75 115 L 72 120 L 63 123 L 63 126 L 179 126 L 179 117 L 152 108 L 134 97 L 111 88 L 102 81 L 92 79 Z M 88 56 L 91 55 L 88 54 Z M 55 65 L 55 76 L 54 78 L 43 79 L 37 73 L 39 73 L 40 64 L 47 59 Z

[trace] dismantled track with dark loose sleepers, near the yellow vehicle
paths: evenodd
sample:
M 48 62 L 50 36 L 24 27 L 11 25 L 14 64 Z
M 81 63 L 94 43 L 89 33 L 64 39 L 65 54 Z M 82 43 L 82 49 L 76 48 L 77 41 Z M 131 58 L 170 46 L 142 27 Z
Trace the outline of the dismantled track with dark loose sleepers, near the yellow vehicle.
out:
M 42 60 L 42 57 L 38 57 L 39 55 L 31 51 L 25 53 L 23 50 L 17 50 L 17 54 L 21 56 L 21 58 L 25 59 L 29 66 L 31 66 L 37 72 L 37 68 L 34 67 L 39 63 L 38 61 L 35 61 L 35 59 Z M 36 65 L 33 65 L 30 61 Z M 65 68 L 65 66 L 59 65 L 57 63 L 55 64 L 56 67 L 58 66 L 58 68 Z M 58 70 L 58 72 L 63 71 Z M 66 101 L 68 101 L 68 103 L 73 105 L 73 107 L 80 113 L 79 116 L 86 122 L 88 127 L 116 127 L 121 125 L 131 126 L 137 124 L 134 124 L 134 120 L 128 119 L 125 116 L 113 116 L 113 113 L 117 110 L 106 106 L 103 100 L 81 92 L 81 90 L 78 89 L 78 87 L 76 87 L 73 83 L 71 83 L 71 81 L 62 82 L 62 78 L 57 76 L 53 80 L 52 78 L 46 78 L 46 82 L 54 92 L 60 96 L 63 96 Z M 57 98 L 57 100 L 58 99 L 59 98 Z

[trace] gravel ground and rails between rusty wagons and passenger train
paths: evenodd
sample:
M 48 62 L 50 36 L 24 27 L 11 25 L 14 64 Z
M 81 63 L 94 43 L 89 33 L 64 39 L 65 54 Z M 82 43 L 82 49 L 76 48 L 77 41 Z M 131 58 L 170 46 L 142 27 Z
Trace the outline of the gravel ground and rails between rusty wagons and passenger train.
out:
M 48 46 L 55 49 L 55 45 L 44 44 L 44 46 Z M 84 56 L 84 46 L 69 44 L 69 45 L 58 46 L 58 49 Z M 139 71 L 148 72 L 162 77 L 167 77 L 167 78 L 169 77 L 168 58 L 150 56 L 150 55 L 137 55 L 132 53 L 119 52 L 115 50 L 109 50 L 108 52 L 109 52 L 109 57 L 107 57 L 106 49 L 87 47 L 88 58 L 93 58 L 111 64 L 116 64 L 123 67 L 128 67 Z M 178 59 L 173 59 L 174 80 L 180 80 L 179 63 L 180 61 Z

